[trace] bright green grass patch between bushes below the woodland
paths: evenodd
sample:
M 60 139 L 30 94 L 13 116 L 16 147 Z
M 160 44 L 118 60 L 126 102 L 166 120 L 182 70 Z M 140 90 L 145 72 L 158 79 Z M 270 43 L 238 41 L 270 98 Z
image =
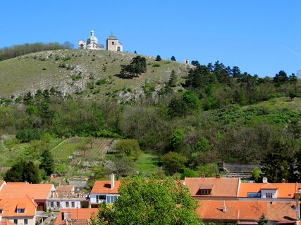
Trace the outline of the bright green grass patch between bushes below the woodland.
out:
M 158 162 L 160 161 L 157 155 L 142 153 L 136 162 L 135 171 L 145 176 L 149 176 L 160 169 Z

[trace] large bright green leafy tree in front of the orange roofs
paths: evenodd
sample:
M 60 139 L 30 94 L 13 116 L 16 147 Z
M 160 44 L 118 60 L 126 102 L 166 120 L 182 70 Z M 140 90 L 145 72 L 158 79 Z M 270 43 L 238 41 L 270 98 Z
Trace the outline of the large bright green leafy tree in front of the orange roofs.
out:
M 171 178 L 157 181 L 134 176 L 122 181 L 119 193 L 109 213 L 100 208 L 100 221 L 113 225 L 201 224 L 195 212 L 197 202 L 188 188 Z

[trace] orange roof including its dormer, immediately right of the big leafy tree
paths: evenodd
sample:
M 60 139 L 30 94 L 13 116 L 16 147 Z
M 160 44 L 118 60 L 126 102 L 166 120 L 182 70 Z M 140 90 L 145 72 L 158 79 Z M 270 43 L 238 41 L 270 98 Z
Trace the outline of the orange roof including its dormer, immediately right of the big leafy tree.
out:
M 196 200 L 238 200 L 240 178 L 216 176 L 185 177 L 183 184 L 188 187 L 192 198 Z

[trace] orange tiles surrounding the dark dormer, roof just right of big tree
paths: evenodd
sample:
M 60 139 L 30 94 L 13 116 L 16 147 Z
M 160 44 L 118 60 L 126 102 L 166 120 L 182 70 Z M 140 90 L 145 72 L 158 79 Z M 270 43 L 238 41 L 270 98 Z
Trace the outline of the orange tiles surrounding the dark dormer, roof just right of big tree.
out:
M 199 189 L 202 187 L 212 187 L 210 197 L 237 197 L 238 195 L 238 184 L 240 183 L 239 178 L 208 178 L 198 177 L 190 178 L 185 177 L 184 185 L 188 186 L 189 191 L 193 196 L 197 195 Z M 202 195 L 201 195 L 202 196 Z

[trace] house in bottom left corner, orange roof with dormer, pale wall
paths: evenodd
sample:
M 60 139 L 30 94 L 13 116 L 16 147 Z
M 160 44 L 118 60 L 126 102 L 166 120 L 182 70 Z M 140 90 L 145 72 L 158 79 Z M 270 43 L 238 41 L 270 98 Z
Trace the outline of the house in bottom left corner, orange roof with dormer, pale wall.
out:
M 5 224 L 35 225 L 36 210 L 37 203 L 28 195 L 0 200 L 0 217 Z

